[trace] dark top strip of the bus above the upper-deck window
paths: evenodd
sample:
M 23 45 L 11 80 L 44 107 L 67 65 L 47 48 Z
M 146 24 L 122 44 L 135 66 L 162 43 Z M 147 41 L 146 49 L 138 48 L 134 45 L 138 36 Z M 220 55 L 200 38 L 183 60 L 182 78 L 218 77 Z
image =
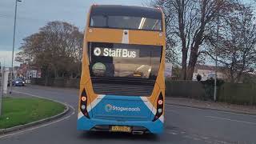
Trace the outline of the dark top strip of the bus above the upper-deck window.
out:
M 143 18 L 162 19 L 162 11 L 142 6 L 94 5 L 91 15 L 122 15 Z

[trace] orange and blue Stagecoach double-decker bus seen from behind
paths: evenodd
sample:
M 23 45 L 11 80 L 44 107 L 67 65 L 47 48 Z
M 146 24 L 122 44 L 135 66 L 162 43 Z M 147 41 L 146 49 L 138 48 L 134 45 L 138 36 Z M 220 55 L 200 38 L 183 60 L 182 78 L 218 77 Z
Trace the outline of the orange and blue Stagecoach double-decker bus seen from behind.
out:
M 85 29 L 78 130 L 163 131 L 166 29 L 161 9 L 91 6 Z

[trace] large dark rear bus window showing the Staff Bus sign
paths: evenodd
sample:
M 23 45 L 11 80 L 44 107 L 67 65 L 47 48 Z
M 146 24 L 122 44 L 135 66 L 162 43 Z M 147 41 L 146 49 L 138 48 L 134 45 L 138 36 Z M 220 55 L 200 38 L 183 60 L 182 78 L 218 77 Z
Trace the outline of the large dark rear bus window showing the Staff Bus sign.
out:
M 88 52 L 91 77 L 155 80 L 162 46 L 90 42 Z

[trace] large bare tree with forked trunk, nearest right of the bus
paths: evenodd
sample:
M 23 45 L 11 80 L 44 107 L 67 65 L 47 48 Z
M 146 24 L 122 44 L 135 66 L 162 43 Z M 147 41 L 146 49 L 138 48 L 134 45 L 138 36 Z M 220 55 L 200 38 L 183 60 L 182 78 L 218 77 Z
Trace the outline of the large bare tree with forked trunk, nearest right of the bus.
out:
M 167 42 L 182 51 L 183 80 L 192 79 L 200 48 L 215 28 L 218 14 L 229 14 L 235 4 L 232 0 L 151 0 L 150 5 L 162 7 L 166 16 Z

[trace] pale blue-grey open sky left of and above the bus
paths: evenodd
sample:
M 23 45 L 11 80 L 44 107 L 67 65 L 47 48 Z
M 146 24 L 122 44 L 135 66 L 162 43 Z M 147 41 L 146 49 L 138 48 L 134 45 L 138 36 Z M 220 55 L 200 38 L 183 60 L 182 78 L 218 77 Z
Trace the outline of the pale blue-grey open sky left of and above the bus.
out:
M 146 0 L 22 0 L 18 2 L 16 42 L 17 53 L 22 39 L 38 32 L 50 21 L 64 21 L 78 26 L 82 31 L 86 26 L 86 16 L 91 5 L 115 4 L 142 6 Z M 15 0 L 0 0 L 0 62 L 11 66 L 14 33 Z M 14 62 L 14 66 L 18 66 Z

